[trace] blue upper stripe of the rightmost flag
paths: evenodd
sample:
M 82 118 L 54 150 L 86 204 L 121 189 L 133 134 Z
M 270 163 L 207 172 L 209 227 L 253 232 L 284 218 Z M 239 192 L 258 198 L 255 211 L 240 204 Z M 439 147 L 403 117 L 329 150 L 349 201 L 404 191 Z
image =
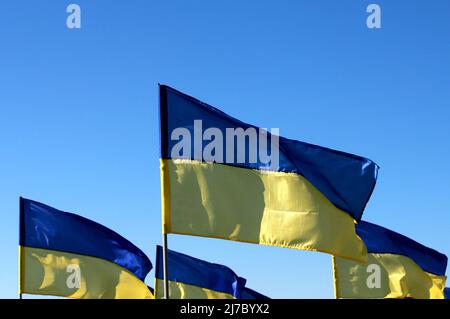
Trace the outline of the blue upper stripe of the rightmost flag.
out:
M 369 253 L 397 254 L 411 258 L 424 271 L 445 276 L 447 256 L 434 249 L 384 227 L 361 221 L 356 233 L 364 241 Z

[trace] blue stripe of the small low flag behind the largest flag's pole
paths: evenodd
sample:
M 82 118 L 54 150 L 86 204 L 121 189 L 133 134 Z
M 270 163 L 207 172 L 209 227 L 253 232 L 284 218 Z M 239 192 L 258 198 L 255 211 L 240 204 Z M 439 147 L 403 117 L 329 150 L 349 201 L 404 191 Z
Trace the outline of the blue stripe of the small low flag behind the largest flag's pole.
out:
M 167 251 L 168 280 L 184 283 L 209 290 L 227 293 L 235 298 L 241 298 L 246 280 L 238 277 L 230 268 L 213 264 L 201 259 Z M 164 279 L 163 250 L 156 247 L 155 277 Z

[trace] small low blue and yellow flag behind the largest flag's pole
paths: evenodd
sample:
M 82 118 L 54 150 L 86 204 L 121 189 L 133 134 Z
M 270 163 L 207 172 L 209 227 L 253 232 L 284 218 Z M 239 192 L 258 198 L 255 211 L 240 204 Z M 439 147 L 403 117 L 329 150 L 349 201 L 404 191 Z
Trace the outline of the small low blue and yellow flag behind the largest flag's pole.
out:
M 156 248 L 155 298 L 164 297 L 163 249 Z M 230 268 L 167 251 L 170 299 L 240 299 L 246 280 Z

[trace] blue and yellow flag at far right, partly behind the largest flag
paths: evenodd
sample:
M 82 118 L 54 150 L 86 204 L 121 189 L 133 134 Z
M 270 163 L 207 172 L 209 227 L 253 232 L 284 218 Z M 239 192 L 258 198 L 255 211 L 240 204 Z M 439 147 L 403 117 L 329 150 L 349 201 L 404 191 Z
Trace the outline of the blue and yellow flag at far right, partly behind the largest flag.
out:
M 447 257 L 391 230 L 361 221 L 369 258 L 333 257 L 337 298 L 444 298 Z

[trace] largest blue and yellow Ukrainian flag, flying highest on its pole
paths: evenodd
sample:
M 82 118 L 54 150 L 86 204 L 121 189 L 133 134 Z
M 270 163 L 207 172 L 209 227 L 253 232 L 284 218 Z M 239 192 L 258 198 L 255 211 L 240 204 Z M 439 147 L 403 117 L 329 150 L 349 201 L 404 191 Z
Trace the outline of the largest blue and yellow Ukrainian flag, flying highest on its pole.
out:
M 257 136 L 256 150 L 250 137 L 239 145 L 228 130 L 264 131 L 164 85 L 160 113 L 164 233 L 366 260 L 354 222 L 375 186 L 374 162 L 283 137 L 277 141 L 268 132 Z M 234 148 L 228 148 L 231 139 Z M 251 152 L 266 148 L 279 151 L 277 167 L 261 156 L 251 159 Z M 243 151 L 245 158 L 238 159 Z M 212 156 L 205 158 L 205 152 Z

